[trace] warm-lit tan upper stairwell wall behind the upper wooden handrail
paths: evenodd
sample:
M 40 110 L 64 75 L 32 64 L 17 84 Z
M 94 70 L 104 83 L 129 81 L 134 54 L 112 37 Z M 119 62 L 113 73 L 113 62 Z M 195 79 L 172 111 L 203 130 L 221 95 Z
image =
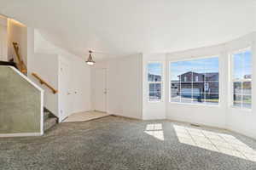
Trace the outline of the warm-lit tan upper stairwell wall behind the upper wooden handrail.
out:
M 8 59 L 17 61 L 13 42 L 18 42 L 20 57 L 27 65 L 27 28 L 18 21 L 8 19 Z

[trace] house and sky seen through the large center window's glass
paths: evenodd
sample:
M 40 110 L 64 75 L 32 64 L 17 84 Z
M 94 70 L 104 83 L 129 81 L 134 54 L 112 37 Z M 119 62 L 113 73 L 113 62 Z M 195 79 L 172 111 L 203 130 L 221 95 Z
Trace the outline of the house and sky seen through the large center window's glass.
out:
M 170 63 L 171 102 L 218 105 L 218 57 Z

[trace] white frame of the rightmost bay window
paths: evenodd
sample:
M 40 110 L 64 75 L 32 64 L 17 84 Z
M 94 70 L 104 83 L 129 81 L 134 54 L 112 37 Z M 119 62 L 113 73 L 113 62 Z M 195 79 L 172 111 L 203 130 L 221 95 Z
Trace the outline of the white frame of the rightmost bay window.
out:
M 234 69 L 235 69 L 235 65 L 234 65 L 234 55 L 235 54 L 239 54 L 239 53 L 244 53 L 246 51 L 251 51 L 252 55 L 253 55 L 253 50 L 252 47 L 249 46 L 247 48 L 240 48 L 238 50 L 234 50 L 232 52 L 230 52 L 230 108 L 233 109 L 238 109 L 238 110 L 242 110 L 242 111 L 252 111 L 252 107 L 253 107 L 253 65 L 252 65 L 252 72 L 251 72 L 251 78 L 250 79 L 236 79 L 234 78 Z M 252 56 L 253 58 L 253 56 Z M 234 105 L 234 82 L 241 82 L 241 106 L 237 106 Z M 242 105 L 242 83 L 243 82 L 251 82 L 251 94 L 247 95 L 247 96 L 251 96 L 251 108 L 247 108 L 247 107 L 243 107 Z

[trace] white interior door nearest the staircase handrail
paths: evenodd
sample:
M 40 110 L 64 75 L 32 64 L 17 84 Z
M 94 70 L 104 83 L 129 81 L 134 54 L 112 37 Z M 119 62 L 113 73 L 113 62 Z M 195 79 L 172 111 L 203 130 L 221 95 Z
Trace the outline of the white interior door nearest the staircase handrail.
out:
M 71 114 L 72 111 L 72 93 L 71 93 L 71 69 L 70 65 L 66 62 L 60 61 L 60 71 L 59 71 L 59 117 L 60 122 L 62 122 L 67 116 Z

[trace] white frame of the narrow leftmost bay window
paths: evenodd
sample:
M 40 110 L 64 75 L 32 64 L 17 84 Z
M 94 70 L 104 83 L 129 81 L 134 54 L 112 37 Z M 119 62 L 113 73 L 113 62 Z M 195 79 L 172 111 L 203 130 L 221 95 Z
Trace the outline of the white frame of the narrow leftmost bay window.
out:
M 154 64 L 160 64 L 161 66 L 161 71 L 160 71 L 160 73 L 161 73 L 161 82 L 149 82 L 148 81 L 148 65 L 149 64 L 152 64 L 152 63 L 154 63 Z M 148 100 L 148 103 L 160 103 L 160 102 L 163 102 L 163 85 L 164 85 L 164 81 L 163 81 L 163 79 L 164 79 L 164 63 L 162 62 L 162 61 L 148 61 L 147 62 L 147 71 L 146 71 L 146 77 L 147 77 L 147 100 Z M 150 93 L 150 91 L 149 91 L 149 84 L 152 84 L 152 83 L 154 83 L 154 84 L 156 84 L 156 83 L 160 83 L 160 85 L 161 85 L 161 88 L 160 88 L 160 96 L 161 96 L 161 98 L 160 99 L 158 99 L 158 100 L 150 100 L 150 96 L 149 96 L 149 93 Z

